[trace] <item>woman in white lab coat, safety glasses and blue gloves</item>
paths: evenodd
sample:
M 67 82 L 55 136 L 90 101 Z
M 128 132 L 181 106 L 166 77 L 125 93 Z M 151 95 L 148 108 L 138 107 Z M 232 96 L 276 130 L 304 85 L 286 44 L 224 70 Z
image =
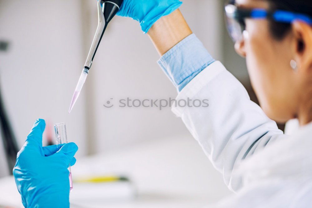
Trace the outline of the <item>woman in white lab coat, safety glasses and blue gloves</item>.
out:
M 179 91 L 177 99 L 209 99 L 208 108 L 173 107 L 173 112 L 183 119 L 213 165 L 222 172 L 225 183 L 237 192 L 216 206 L 309 206 L 312 204 L 309 197 L 312 192 L 312 2 L 236 0 L 225 7 L 235 49 L 246 57 L 262 109 L 250 101 L 238 80 L 192 34 L 177 9 L 181 3 L 124 0 L 118 15 L 138 20 L 142 30 L 148 33 L 162 56 L 159 65 Z M 279 122 L 298 118 L 302 128 L 289 137 L 268 117 Z M 43 129 L 43 121 L 38 120 L 32 130 L 36 134 L 31 133 L 27 142 L 35 138 L 40 141 Z M 24 205 L 55 206 L 53 198 L 64 195 L 59 203 L 69 206 L 65 172 L 66 164 L 75 161 L 76 146 L 72 144 L 72 149 L 63 150 L 67 160 L 59 167 L 64 171 L 62 180 L 56 183 L 56 176 L 51 176 L 49 180 L 54 183 L 43 183 L 40 167 L 44 165 L 46 170 L 56 171 L 51 156 L 60 153 L 53 149 L 46 154 L 41 143 L 27 148 L 28 143 L 20 151 L 13 170 Z M 37 164 L 26 162 L 39 153 Z M 33 169 L 36 174 L 32 173 Z

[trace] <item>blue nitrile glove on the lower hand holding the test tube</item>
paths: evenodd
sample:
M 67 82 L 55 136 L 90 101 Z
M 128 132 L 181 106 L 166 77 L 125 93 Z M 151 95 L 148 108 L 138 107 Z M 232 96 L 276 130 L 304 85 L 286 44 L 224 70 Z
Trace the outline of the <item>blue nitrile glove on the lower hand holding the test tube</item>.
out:
M 74 165 L 75 143 L 42 147 L 45 121 L 37 119 L 17 153 L 13 175 L 23 205 L 28 207 L 69 207 L 68 164 Z

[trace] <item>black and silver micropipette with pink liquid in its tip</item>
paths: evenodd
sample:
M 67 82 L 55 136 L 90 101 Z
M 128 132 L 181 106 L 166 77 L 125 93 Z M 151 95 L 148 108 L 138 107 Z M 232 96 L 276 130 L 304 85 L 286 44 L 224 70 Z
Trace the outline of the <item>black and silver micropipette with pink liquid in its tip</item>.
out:
M 80 91 L 82 89 L 83 84 L 85 84 L 85 80 L 87 79 L 87 75 L 89 73 L 89 70 L 92 65 L 93 58 L 95 56 L 95 53 L 100 45 L 100 41 L 102 40 L 103 34 L 105 32 L 105 29 L 110 22 L 110 20 L 116 15 L 116 13 L 119 11 L 119 8 L 122 4 L 123 0 L 99 0 L 97 4 L 98 8 L 98 27 L 95 32 L 94 39 L 92 41 L 92 45 L 87 57 L 87 60 L 85 61 L 85 66 L 82 69 L 80 78 L 78 80 L 78 84 L 76 86 L 73 98 L 71 99 L 71 105 L 69 107 L 68 113 L 71 112 L 71 109 L 74 107 L 74 104 L 76 103 L 78 96 L 80 94 Z

